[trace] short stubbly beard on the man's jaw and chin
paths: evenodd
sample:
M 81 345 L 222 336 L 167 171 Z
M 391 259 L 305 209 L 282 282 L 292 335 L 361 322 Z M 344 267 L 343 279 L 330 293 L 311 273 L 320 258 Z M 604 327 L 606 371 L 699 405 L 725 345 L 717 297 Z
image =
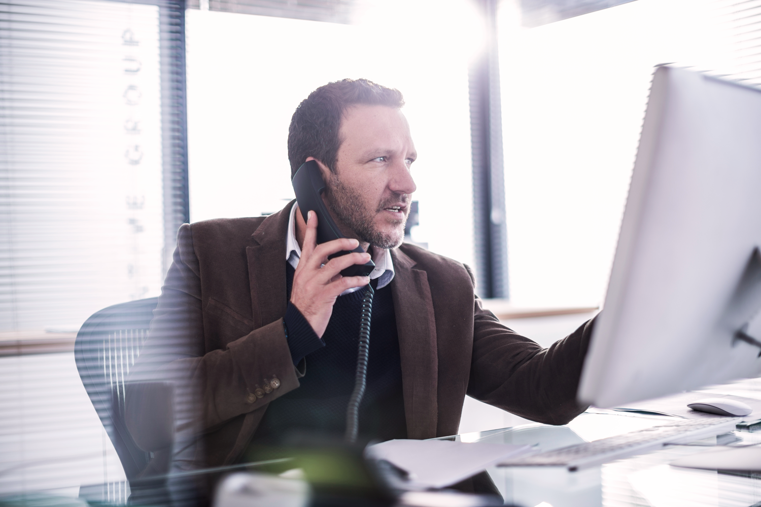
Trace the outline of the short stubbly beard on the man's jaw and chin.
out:
M 327 204 L 345 227 L 355 233 L 360 242 L 370 243 L 380 249 L 393 249 L 400 246 L 404 240 L 404 224 L 409 215 L 409 195 L 402 192 L 393 192 L 392 195 L 383 198 L 377 208 L 371 205 L 356 189 L 345 185 L 336 173 L 330 176 L 330 185 L 326 185 L 325 193 Z M 403 213 L 400 213 L 396 230 L 390 233 L 379 230 L 375 225 L 375 216 L 385 208 L 403 202 L 406 204 Z

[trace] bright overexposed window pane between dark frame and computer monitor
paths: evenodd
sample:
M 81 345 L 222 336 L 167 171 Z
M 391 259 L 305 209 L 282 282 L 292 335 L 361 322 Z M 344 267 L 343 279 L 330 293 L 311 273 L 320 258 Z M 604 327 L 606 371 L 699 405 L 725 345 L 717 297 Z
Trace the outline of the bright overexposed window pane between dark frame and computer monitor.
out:
M 499 16 L 511 299 L 602 303 L 654 65 L 726 65 L 716 2 L 638 0 L 537 28 Z

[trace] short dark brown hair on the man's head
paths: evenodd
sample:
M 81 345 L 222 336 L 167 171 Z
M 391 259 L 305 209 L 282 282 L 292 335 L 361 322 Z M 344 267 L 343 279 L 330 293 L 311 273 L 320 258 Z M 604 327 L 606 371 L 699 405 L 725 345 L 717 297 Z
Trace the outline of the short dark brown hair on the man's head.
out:
M 341 146 L 341 119 L 355 104 L 404 106 L 402 92 L 368 79 L 342 79 L 325 84 L 302 100 L 288 127 L 288 160 L 291 178 L 307 157 L 314 157 L 336 172 L 336 156 Z

